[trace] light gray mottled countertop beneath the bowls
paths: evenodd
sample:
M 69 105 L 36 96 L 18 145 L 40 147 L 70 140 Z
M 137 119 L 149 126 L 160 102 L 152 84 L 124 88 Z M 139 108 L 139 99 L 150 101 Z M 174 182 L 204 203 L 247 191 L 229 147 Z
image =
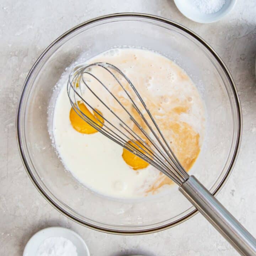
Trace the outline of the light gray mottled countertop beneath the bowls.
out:
M 0 255 L 22 255 L 31 235 L 48 226 L 79 233 L 91 256 L 238 255 L 197 214 L 160 233 L 118 236 L 100 233 L 61 215 L 38 193 L 20 160 L 15 134 L 18 97 L 32 64 L 55 38 L 90 18 L 144 12 L 169 18 L 203 37 L 228 66 L 243 112 L 241 150 L 218 199 L 256 236 L 256 1 L 238 0 L 223 20 L 199 24 L 182 16 L 172 0 L 0 1 Z

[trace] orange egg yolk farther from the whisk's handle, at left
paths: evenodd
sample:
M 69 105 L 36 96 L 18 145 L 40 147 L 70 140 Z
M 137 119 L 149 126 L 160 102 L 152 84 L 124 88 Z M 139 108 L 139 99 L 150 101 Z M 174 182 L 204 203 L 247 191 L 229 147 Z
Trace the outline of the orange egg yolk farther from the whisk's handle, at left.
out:
M 84 105 L 82 102 L 78 102 L 78 107 L 82 113 L 85 114 L 88 118 L 90 118 L 92 121 L 97 123 L 100 127 L 103 126 L 104 119 L 96 113 L 96 111 L 93 111 L 93 114 L 88 110 L 88 108 Z M 98 111 L 98 110 L 97 110 Z M 98 111 L 101 115 L 102 113 Z M 75 130 L 77 130 L 80 133 L 86 133 L 86 134 L 92 134 L 96 133 L 97 130 L 93 128 L 89 123 L 85 122 L 76 112 L 73 108 L 71 108 L 69 112 L 69 119 L 71 122 L 71 125 Z M 98 121 L 99 120 L 99 121 Z M 101 122 L 102 123 L 101 123 Z

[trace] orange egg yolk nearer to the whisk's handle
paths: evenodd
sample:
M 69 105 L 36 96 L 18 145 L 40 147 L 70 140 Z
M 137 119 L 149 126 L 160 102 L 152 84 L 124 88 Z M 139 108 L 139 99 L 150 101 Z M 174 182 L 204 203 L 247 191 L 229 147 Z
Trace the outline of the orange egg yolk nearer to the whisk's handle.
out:
M 139 151 L 142 151 L 142 149 L 139 148 L 139 146 L 143 149 L 145 149 L 145 147 L 140 143 L 140 142 L 136 142 L 138 145 L 136 145 L 134 142 L 132 141 L 128 141 L 127 142 L 130 145 L 133 145 L 134 148 L 138 149 Z M 130 166 L 132 167 L 133 170 L 140 170 L 140 169 L 144 169 L 146 168 L 149 163 L 146 162 L 145 160 L 141 159 L 139 156 L 133 154 L 132 152 L 130 152 L 129 150 L 123 148 L 123 154 L 122 154 L 123 160 Z

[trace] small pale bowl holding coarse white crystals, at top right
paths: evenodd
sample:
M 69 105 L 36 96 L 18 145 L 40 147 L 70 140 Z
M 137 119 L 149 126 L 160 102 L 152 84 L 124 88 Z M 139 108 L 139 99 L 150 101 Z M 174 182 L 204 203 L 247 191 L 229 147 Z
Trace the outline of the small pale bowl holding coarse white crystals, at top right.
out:
M 220 20 L 234 7 L 236 0 L 226 0 L 222 9 L 213 14 L 204 14 L 194 4 L 193 0 L 174 0 L 180 12 L 192 21 L 199 23 L 211 23 Z

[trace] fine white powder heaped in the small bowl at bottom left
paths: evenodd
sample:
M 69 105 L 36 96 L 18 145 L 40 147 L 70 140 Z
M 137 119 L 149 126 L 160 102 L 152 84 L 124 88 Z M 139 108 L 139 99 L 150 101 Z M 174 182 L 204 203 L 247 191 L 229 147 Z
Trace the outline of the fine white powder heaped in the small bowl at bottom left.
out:
M 75 245 L 63 237 L 50 237 L 43 241 L 36 256 L 77 256 Z

